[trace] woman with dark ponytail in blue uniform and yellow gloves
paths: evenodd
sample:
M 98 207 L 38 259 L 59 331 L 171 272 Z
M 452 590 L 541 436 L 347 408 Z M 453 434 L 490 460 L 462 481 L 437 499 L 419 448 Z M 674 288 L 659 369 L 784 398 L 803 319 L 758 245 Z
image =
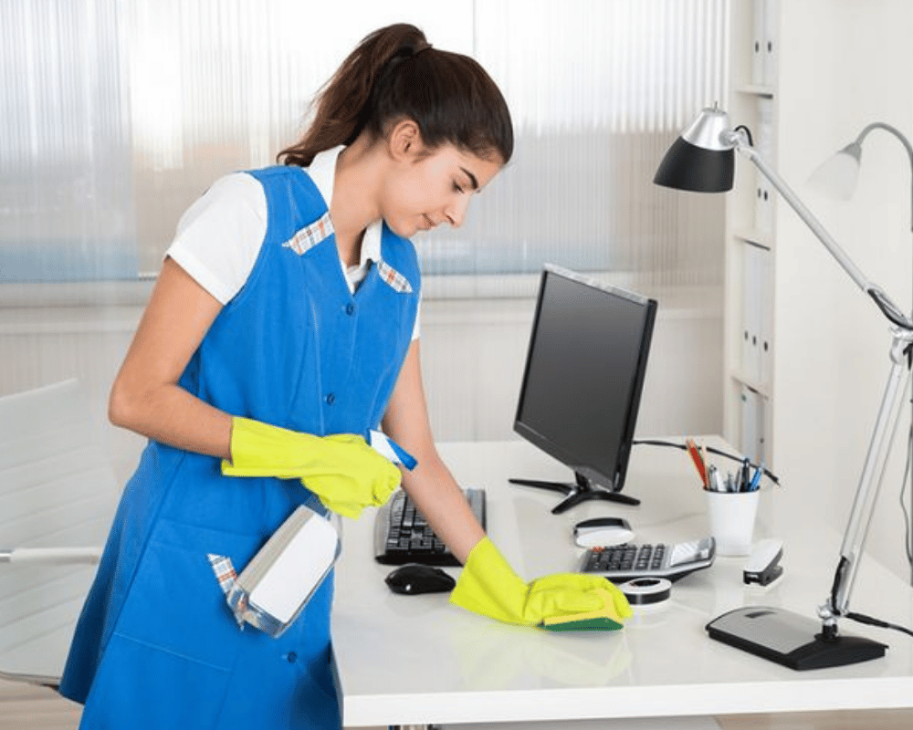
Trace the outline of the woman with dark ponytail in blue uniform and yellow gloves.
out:
M 389 26 L 343 61 L 283 164 L 216 181 L 184 214 L 110 395 L 111 420 L 150 441 L 60 687 L 82 727 L 339 727 L 332 579 L 273 640 L 238 629 L 207 555 L 243 566 L 297 506 L 356 517 L 401 480 L 466 564 L 456 604 L 530 625 L 627 615 L 605 579 L 519 579 L 428 425 L 408 239 L 462 224 L 512 151 L 488 74 Z M 379 423 L 414 471 L 365 443 Z

